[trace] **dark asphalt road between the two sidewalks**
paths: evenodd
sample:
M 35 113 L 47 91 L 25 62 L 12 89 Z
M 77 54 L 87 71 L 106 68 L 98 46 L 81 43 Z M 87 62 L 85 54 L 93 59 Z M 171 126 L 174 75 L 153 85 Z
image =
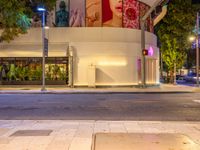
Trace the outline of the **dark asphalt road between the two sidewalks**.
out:
M 200 121 L 198 100 L 200 93 L 0 94 L 0 120 Z

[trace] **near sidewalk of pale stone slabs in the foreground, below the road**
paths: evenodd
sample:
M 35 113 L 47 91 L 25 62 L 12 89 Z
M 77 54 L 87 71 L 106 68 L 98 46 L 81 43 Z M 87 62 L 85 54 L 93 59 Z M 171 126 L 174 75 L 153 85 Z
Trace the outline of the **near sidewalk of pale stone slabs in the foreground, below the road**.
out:
M 12 136 L 19 130 L 50 134 Z M 189 145 L 200 145 L 200 122 L 0 120 L 0 149 L 91 150 L 95 133 L 179 133 L 190 139 Z

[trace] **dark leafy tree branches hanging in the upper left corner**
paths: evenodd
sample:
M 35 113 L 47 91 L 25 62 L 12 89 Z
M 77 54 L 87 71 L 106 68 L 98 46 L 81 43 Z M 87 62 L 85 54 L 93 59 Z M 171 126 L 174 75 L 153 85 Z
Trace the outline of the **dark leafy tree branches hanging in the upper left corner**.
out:
M 47 10 L 51 10 L 55 2 L 56 0 L 0 0 L 0 42 L 9 42 L 19 34 L 26 33 L 37 5 L 44 4 Z

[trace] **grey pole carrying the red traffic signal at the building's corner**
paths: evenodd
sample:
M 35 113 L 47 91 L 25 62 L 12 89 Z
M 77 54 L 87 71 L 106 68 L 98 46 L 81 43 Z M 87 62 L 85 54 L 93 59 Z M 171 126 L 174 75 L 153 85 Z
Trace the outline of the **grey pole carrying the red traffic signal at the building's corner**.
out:
M 141 20 L 141 48 L 142 50 L 145 49 L 145 21 Z M 141 51 L 142 52 L 142 51 Z M 145 62 L 145 56 L 142 53 L 142 87 L 146 87 L 146 62 Z

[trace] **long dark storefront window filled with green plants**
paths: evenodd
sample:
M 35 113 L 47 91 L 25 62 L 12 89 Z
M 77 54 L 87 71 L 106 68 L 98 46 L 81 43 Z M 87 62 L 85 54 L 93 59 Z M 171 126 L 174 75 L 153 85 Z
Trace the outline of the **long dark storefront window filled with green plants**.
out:
M 46 58 L 45 73 L 47 81 L 67 83 L 67 57 Z M 24 82 L 42 80 L 42 58 L 0 58 L 0 80 L 2 82 Z

